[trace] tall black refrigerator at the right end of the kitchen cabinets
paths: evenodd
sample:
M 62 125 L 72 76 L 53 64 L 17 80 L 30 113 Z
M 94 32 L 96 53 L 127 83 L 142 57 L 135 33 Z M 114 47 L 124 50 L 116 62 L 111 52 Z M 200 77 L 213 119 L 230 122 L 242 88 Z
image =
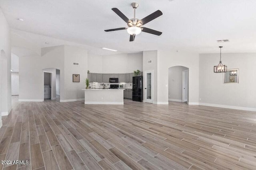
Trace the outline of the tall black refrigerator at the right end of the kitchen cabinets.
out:
M 132 100 L 142 102 L 143 100 L 143 76 L 132 77 Z

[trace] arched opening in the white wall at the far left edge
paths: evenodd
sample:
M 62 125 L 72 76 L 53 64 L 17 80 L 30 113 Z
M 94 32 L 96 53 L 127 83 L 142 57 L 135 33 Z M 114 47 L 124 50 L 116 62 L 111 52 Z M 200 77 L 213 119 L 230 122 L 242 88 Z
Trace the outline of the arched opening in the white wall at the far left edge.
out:
M 7 57 L 4 50 L 0 54 L 0 111 L 1 115 L 8 115 L 7 107 Z

